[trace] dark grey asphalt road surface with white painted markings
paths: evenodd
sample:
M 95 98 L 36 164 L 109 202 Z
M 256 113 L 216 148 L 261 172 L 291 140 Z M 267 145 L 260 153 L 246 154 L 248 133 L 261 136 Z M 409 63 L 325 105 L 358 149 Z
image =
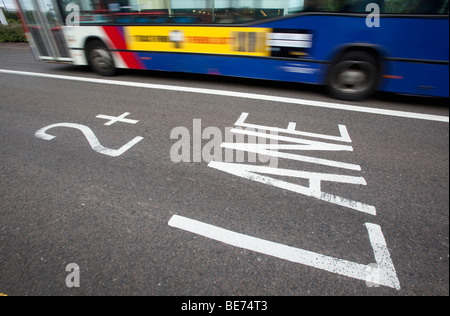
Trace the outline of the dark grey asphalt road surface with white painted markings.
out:
M 0 293 L 449 295 L 446 101 L 2 44 Z

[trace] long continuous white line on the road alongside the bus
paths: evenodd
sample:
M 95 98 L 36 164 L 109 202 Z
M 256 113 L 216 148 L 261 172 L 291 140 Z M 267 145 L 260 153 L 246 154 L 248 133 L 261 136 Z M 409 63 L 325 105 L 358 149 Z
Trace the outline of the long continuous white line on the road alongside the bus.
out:
M 142 83 L 142 82 L 95 79 L 95 78 L 87 78 L 87 77 L 62 76 L 62 75 L 52 75 L 52 74 L 45 74 L 45 73 L 6 70 L 6 69 L 0 69 L 0 73 L 8 74 L 8 75 L 47 78 L 47 79 L 59 79 L 59 80 L 70 80 L 70 81 L 78 81 L 78 82 L 108 84 L 108 85 L 123 86 L 123 87 L 157 89 L 157 90 L 166 90 L 166 91 L 189 92 L 189 93 L 198 93 L 198 94 L 244 98 L 244 99 L 252 99 L 252 100 L 263 100 L 263 101 L 303 105 L 303 106 L 310 106 L 310 107 L 335 109 L 335 110 L 342 110 L 342 111 L 369 113 L 369 114 L 377 114 L 377 115 L 385 115 L 385 116 L 394 116 L 394 117 L 449 123 L 448 116 L 385 110 L 385 109 L 377 109 L 377 108 L 370 108 L 370 107 L 363 107 L 363 106 L 348 105 L 348 104 L 342 104 L 342 103 L 331 103 L 331 102 L 322 102 L 322 101 L 294 99 L 294 98 L 277 97 L 277 96 L 270 96 L 270 95 L 263 95 L 263 94 L 244 93 L 244 92 L 237 92 L 237 91 L 191 88 L 191 87 L 172 86 L 172 85 L 150 84 L 150 83 Z

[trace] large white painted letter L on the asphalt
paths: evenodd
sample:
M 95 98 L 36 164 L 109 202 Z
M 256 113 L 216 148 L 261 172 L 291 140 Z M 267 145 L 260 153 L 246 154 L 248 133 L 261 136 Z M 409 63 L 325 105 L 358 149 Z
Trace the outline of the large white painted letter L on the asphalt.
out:
M 205 224 L 183 216 L 174 215 L 169 226 L 213 239 L 234 247 L 255 251 L 268 256 L 313 268 L 325 270 L 346 277 L 371 282 L 400 290 L 400 281 L 386 246 L 381 228 L 378 225 L 365 224 L 369 233 L 370 244 L 375 255 L 376 268 L 373 264 L 365 265 L 319 253 L 286 246 L 283 244 L 232 232 L 210 224 Z

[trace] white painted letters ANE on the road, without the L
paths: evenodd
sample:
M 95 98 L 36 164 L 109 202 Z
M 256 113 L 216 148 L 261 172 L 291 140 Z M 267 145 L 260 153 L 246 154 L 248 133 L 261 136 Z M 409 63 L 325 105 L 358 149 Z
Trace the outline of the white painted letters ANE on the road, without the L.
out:
M 250 143 L 222 143 L 221 147 L 226 149 L 233 149 L 236 152 L 247 152 L 247 153 L 256 153 L 258 155 L 263 155 L 267 157 L 276 157 L 282 159 L 289 159 L 294 161 L 301 161 L 307 163 L 320 164 L 325 166 L 336 167 L 340 169 L 348 169 L 361 171 L 361 166 L 355 164 L 349 164 L 339 161 L 320 159 L 309 156 L 302 156 L 297 154 L 291 154 L 286 152 L 279 152 L 278 150 L 295 150 L 295 151 L 353 151 L 352 146 L 327 143 L 322 141 L 312 141 L 304 138 L 299 138 L 297 135 L 305 135 L 308 134 L 310 137 L 315 138 L 326 138 L 326 139 L 337 139 L 335 136 L 330 135 L 322 135 L 322 134 L 313 134 L 306 133 L 303 131 L 297 131 L 294 127 L 295 123 L 291 122 L 288 125 L 287 129 L 281 129 L 277 127 L 271 126 L 262 126 L 262 125 L 254 125 L 245 123 L 245 120 L 248 117 L 248 113 L 242 113 L 238 121 L 235 123 L 240 126 L 248 127 L 251 126 L 257 127 L 258 132 L 253 130 L 241 130 L 241 129 L 231 129 L 231 133 L 239 134 L 239 135 L 247 135 L 253 136 L 259 139 L 270 139 L 271 142 L 275 140 L 275 143 L 266 144 L 266 142 L 260 142 L 259 144 L 250 144 Z M 290 135 L 295 135 L 296 137 L 288 137 L 288 136 L 279 136 L 279 135 L 268 135 L 262 133 L 260 131 L 283 131 L 284 133 L 288 133 Z M 341 136 L 338 137 L 342 142 L 351 142 L 350 135 L 348 134 L 347 127 L 344 125 L 339 125 L 339 130 Z M 290 142 L 291 144 L 279 144 L 279 142 Z M 326 174 L 326 173 L 318 173 L 318 172 L 307 172 L 302 170 L 289 170 L 289 169 L 280 169 L 277 167 L 266 167 L 259 165 L 250 165 L 250 164 L 237 164 L 237 163 L 224 163 L 221 161 L 211 161 L 208 164 L 208 167 L 217 169 L 234 176 L 238 176 L 244 179 L 248 179 L 251 181 L 259 182 L 262 184 L 274 186 L 280 189 L 288 190 L 291 192 L 295 192 L 298 194 L 302 194 L 308 197 L 312 197 L 324 202 L 332 203 L 335 205 L 343 206 L 346 208 L 350 208 L 356 210 L 358 212 L 367 213 L 370 215 L 376 215 L 376 208 L 372 205 L 368 205 L 365 203 L 357 202 L 351 199 L 347 199 L 344 197 L 340 197 L 334 194 L 326 193 L 322 191 L 322 182 L 335 182 L 335 183 L 346 183 L 346 184 L 355 184 L 355 185 L 367 185 L 366 180 L 363 177 L 354 177 L 354 176 L 346 176 L 341 174 Z M 297 183 L 291 183 L 285 180 L 277 179 L 272 176 L 277 177 L 290 177 L 290 178 L 302 178 L 308 181 L 308 185 L 299 185 Z

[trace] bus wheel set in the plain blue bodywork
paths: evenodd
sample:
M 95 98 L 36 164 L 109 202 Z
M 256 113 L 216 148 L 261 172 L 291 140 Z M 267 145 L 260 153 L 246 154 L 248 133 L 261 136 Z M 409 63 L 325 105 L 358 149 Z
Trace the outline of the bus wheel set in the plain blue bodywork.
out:
M 369 97 L 377 89 L 379 77 L 380 71 L 373 55 L 352 51 L 332 64 L 327 86 L 336 99 L 359 101 Z

